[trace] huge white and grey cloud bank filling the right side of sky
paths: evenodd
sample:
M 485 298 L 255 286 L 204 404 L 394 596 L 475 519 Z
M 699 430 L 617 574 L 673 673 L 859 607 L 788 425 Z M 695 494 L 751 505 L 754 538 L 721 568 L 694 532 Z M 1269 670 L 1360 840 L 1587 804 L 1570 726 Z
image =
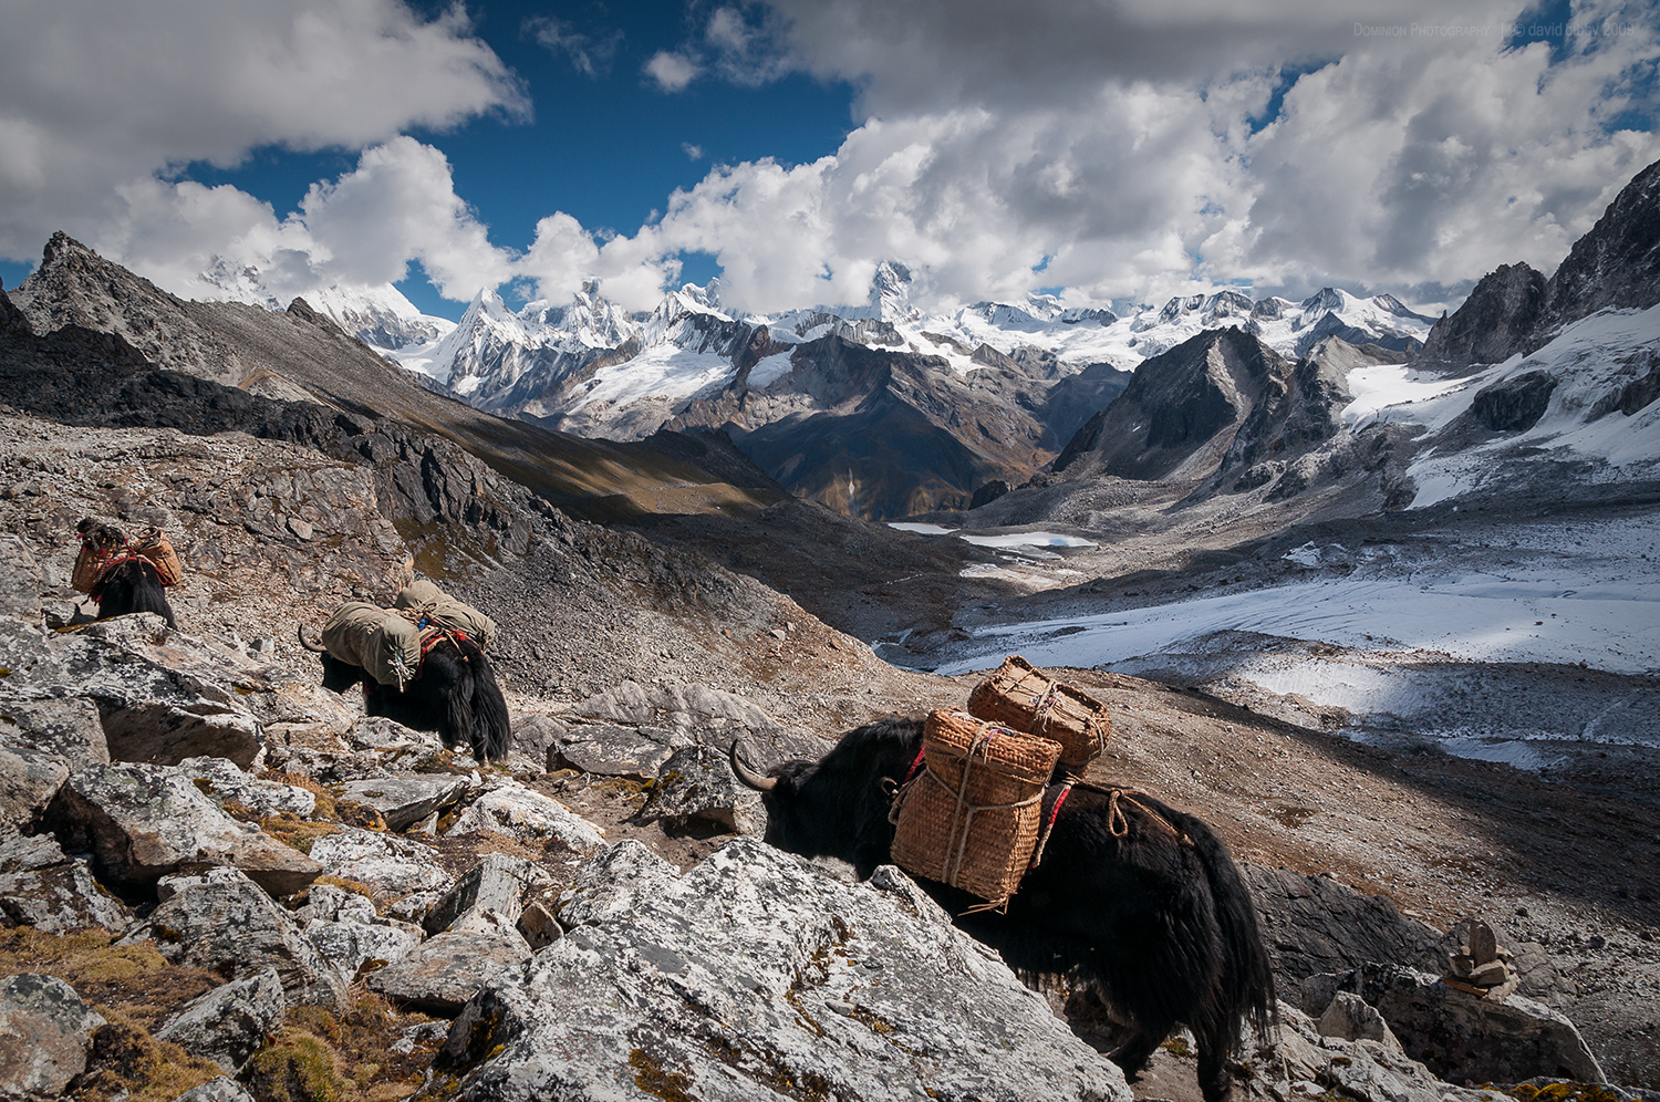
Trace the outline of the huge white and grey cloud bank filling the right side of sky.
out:
M 1522 0 L 725 5 L 682 46 L 704 71 L 848 80 L 872 118 L 812 164 L 715 168 L 629 242 L 712 254 L 757 310 L 863 300 L 881 259 L 938 302 L 1549 271 L 1660 156 L 1620 126 L 1657 106 L 1642 15 L 1585 2 L 1517 46 Z

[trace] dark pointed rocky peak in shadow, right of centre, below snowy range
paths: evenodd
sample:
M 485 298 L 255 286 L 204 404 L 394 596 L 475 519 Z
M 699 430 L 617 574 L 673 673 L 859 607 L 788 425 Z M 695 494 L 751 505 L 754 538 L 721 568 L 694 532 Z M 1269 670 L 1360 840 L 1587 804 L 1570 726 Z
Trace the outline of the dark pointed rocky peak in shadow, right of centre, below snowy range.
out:
M 1204 478 L 1260 405 L 1285 402 L 1291 365 L 1237 329 L 1215 329 L 1135 368 L 1056 460 L 1067 478 Z

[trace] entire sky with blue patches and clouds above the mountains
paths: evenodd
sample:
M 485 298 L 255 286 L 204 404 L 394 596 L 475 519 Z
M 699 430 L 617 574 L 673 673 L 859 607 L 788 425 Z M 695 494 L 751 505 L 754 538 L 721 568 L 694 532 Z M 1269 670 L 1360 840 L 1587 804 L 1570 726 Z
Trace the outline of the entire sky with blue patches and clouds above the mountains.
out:
M 0 280 L 53 229 L 191 297 L 598 276 L 646 309 L 1444 300 L 1660 158 L 1652 3 L 12 0 Z M 242 287 L 236 294 L 256 294 Z

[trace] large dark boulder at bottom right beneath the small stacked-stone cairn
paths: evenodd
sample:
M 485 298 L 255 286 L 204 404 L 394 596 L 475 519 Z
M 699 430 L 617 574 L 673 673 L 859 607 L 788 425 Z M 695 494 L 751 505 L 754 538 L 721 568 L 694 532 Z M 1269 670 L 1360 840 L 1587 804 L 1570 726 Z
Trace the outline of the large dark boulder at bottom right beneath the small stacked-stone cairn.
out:
M 1521 1082 L 1536 1075 L 1607 1082 L 1574 1024 L 1524 996 L 1479 997 L 1429 973 L 1378 964 L 1340 976 L 1335 986 L 1374 1006 L 1406 1054 L 1449 1082 Z M 1326 1011 L 1315 1009 L 1321 1016 Z

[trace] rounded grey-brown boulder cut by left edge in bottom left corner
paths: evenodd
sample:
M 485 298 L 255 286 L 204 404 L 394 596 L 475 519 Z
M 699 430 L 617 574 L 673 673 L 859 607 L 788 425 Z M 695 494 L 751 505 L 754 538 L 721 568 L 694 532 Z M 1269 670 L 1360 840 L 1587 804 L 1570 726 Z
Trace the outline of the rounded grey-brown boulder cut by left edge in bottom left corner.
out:
M 86 1070 L 86 1049 L 103 1024 L 56 976 L 0 979 L 0 1099 L 61 1099 L 70 1080 Z

